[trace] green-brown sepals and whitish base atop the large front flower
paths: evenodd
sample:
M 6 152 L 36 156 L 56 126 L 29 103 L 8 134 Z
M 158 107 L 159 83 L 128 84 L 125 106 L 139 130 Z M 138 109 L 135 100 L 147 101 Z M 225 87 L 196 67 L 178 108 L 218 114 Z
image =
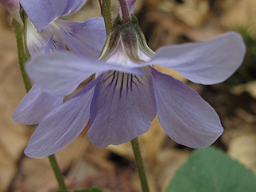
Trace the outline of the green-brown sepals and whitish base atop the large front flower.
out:
M 118 15 L 99 60 L 134 67 L 150 60 L 154 54 L 145 42 L 136 17 L 131 14 L 131 21 L 123 24 Z

